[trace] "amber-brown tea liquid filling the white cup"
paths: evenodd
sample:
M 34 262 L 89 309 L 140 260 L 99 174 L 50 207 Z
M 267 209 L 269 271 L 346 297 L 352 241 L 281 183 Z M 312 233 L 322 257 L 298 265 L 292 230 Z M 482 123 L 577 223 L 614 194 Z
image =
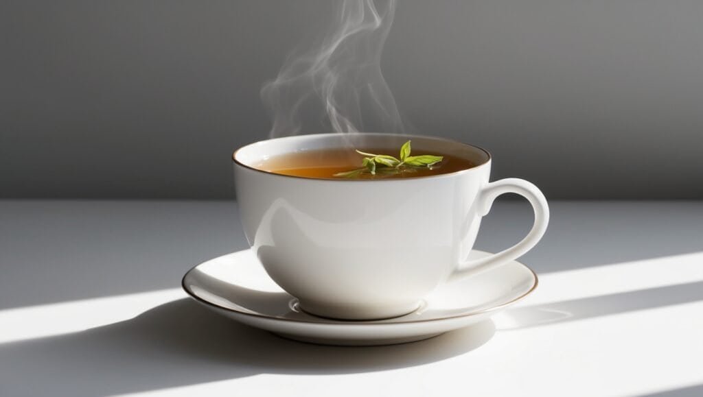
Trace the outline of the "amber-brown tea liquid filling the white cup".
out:
M 357 148 L 361 152 L 378 153 L 381 155 L 396 155 L 397 148 Z M 414 151 L 414 150 L 413 150 Z M 415 178 L 418 176 L 434 176 L 440 174 L 451 174 L 475 167 L 475 163 L 463 157 L 447 155 L 445 153 L 425 152 L 421 148 L 418 152 L 423 155 L 441 156 L 442 160 L 430 167 L 404 167 L 399 171 L 389 172 L 389 169 L 378 167 L 375 174 L 368 172 L 359 173 L 349 179 L 387 179 L 387 178 Z M 264 171 L 274 174 L 302 176 L 304 178 L 322 179 L 347 179 L 339 175 L 361 169 L 363 167 L 364 155 L 360 155 L 351 148 L 334 148 L 323 150 L 307 150 L 302 152 L 292 152 L 285 155 L 271 157 L 265 160 L 259 167 Z

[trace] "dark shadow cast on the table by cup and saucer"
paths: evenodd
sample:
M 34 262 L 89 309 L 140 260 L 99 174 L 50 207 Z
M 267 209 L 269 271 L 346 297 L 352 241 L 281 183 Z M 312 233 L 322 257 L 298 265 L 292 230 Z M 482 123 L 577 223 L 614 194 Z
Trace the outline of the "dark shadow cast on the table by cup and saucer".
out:
M 369 372 L 451 358 L 482 346 L 494 332 L 487 320 L 410 344 L 321 346 L 282 339 L 179 299 L 122 323 L 0 345 L 0 391 L 80 397 L 261 373 Z

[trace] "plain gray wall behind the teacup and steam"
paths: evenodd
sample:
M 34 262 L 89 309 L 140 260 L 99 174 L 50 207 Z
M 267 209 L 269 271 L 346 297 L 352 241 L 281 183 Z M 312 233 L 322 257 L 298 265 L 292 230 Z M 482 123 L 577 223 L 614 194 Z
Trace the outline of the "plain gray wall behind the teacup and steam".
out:
M 0 3 L 0 197 L 233 196 L 259 89 L 330 1 Z M 703 1 L 401 0 L 383 58 L 422 134 L 551 198 L 703 197 Z

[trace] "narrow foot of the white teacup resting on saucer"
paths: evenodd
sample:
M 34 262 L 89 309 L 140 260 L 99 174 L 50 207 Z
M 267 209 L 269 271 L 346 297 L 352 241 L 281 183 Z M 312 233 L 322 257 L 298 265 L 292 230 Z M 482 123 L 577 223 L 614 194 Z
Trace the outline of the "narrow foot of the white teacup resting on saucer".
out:
M 298 300 L 297 308 L 305 313 L 332 320 L 346 321 L 372 321 L 385 320 L 388 318 L 401 317 L 413 313 L 422 306 L 422 301 L 414 301 L 411 304 L 393 306 L 355 306 L 329 304 L 316 304 L 310 301 Z

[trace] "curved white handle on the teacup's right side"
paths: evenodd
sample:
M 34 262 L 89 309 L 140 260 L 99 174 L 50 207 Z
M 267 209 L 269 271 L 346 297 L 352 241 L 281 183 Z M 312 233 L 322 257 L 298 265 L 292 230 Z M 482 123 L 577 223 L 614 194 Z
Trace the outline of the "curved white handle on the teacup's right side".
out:
M 517 193 L 525 197 L 532 205 L 532 209 L 534 210 L 534 224 L 531 230 L 522 241 L 508 249 L 484 258 L 460 263 L 456 271 L 449 276 L 450 281 L 476 275 L 517 259 L 532 249 L 544 235 L 545 230 L 547 230 L 547 223 L 549 223 L 549 206 L 547 205 L 547 199 L 537 186 L 523 179 L 505 178 L 500 181 L 488 183 L 484 186 L 476 201 L 478 216 L 488 214 L 496 197 L 505 193 Z

